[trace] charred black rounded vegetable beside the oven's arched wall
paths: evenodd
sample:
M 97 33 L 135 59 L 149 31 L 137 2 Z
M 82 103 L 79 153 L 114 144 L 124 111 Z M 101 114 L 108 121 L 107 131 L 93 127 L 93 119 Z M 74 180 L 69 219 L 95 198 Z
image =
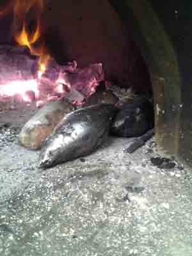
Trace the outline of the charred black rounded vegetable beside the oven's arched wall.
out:
M 119 102 L 111 133 L 122 137 L 138 137 L 154 127 L 154 109 L 145 97 L 131 97 Z

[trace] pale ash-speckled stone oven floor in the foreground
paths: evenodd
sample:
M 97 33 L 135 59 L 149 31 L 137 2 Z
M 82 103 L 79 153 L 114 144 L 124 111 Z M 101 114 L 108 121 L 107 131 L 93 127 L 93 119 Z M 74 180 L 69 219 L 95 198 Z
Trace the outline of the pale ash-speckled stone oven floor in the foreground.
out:
M 0 255 L 192 255 L 190 170 L 154 166 L 152 140 L 130 155 L 125 138 L 40 170 L 17 143 L 33 113 L 0 115 Z

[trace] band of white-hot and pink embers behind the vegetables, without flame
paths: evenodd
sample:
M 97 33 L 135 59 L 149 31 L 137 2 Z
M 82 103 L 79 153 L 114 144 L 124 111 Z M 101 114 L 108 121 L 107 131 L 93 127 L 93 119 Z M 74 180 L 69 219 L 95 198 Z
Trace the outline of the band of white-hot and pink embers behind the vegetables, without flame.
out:
M 36 101 L 36 106 L 42 106 L 47 101 L 67 97 L 70 102 L 81 105 L 86 97 L 95 92 L 100 81 L 104 81 L 104 74 L 100 63 L 76 68 L 73 72 L 61 70 L 72 70 L 70 67 L 71 63 L 62 67 L 58 65 L 58 68 L 53 70 L 49 67 L 42 77 L 17 79 L 0 84 L 0 100 L 17 95 L 19 100 Z M 46 77 L 46 74 L 51 76 Z

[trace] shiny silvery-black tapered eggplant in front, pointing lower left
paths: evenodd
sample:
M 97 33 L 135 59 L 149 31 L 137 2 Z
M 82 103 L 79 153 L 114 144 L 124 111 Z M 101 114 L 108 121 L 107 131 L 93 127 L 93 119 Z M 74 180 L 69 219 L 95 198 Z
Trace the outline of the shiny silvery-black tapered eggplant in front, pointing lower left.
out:
M 68 114 L 56 126 L 40 152 L 40 167 L 86 156 L 106 140 L 116 111 L 112 104 L 98 104 Z

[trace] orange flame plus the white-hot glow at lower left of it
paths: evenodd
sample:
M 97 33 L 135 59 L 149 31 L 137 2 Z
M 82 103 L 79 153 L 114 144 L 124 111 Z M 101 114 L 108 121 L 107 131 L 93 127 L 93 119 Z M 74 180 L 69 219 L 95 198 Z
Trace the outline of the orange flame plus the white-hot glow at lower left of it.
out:
M 17 81 L 0 84 L 0 97 L 17 97 L 26 102 L 31 102 L 32 98 L 42 100 L 44 96 L 40 95 L 39 79 L 44 74 L 51 56 L 44 42 L 44 26 L 42 22 L 42 13 L 44 12 L 45 0 L 10 0 L 0 15 L 13 13 L 12 32 L 17 44 L 26 46 L 31 55 L 39 57 L 38 74 L 36 79 L 24 80 L 20 77 Z M 52 88 L 53 90 L 53 88 Z M 49 95 L 47 95 L 49 97 Z

